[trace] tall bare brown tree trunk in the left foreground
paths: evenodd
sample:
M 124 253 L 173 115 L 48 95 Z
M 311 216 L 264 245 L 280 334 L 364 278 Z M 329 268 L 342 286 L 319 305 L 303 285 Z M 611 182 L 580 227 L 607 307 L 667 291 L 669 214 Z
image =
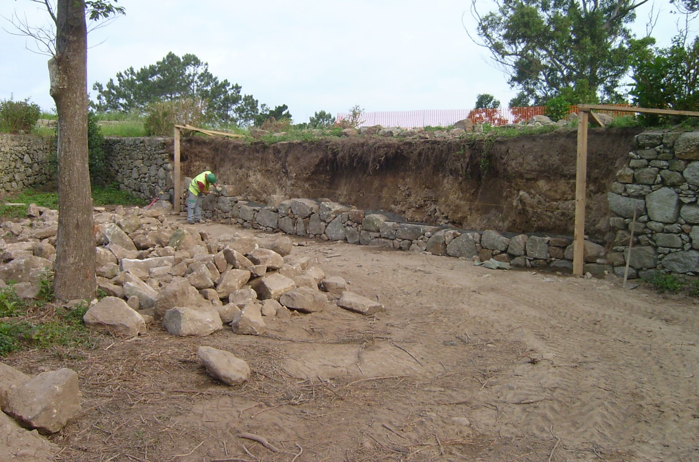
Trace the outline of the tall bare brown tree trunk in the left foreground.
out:
M 58 113 L 58 237 L 54 292 L 92 299 L 92 194 L 87 163 L 87 24 L 84 0 L 58 0 L 56 56 L 48 63 Z

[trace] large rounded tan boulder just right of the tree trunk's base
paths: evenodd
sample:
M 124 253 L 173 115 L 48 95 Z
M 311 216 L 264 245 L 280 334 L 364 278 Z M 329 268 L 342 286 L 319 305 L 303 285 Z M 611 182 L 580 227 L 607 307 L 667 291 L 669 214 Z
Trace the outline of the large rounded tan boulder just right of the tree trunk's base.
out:
M 106 327 L 127 336 L 143 334 L 146 330 L 143 317 L 117 297 L 104 297 L 90 306 L 82 320 L 87 326 Z

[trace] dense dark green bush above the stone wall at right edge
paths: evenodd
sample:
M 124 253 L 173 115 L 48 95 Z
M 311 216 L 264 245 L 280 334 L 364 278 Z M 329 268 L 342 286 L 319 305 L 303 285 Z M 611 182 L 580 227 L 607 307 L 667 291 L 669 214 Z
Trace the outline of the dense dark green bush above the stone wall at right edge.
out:
M 686 40 L 684 33 L 667 48 L 642 47 L 633 62 L 633 103 L 658 109 L 699 109 L 699 37 Z M 655 125 L 657 114 L 642 114 L 644 124 Z M 678 122 L 681 116 L 670 117 Z

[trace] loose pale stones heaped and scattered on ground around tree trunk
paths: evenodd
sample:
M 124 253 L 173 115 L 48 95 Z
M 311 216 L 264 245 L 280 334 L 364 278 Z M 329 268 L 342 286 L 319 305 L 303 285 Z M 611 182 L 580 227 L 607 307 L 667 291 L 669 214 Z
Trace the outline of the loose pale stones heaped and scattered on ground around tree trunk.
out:
M 259 335 L 272 320 L 331 304 L 362 315 L 384 309 L 348 292 L 343 278 L 326 277 L 308 257 L 291 255 L 288 237 L 268 248 L 237 233 L 217 239 L 168 220 L 169 209 L 168 202 L 150 210 L 95 209 L 97 288 L 106 297 L 92 301 L 86 325 L 122 336 L 143 334 L 153 322 L 177 336 L 206 336 L 224 325 L 235 334 Z M 31 204 L 26 219 L 1 226 L 17 242 L 0 240 L 0 285 L 15 281 L 18 295 L 36 297 L 55 260 L 57 212 Z M 231 352 L 202 346 L 198 355 L 210 375 L 226 384 L 250 375 Z M 59 369 L 29 378 L 0 363 L 0 404 L 29 428 L 58 431 L 80 409 L 77 375 Z

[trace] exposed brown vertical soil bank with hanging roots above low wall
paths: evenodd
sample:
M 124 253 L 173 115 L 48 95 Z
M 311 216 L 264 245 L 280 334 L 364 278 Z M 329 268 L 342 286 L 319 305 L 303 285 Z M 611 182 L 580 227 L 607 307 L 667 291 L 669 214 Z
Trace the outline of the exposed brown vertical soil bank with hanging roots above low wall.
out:
M 640 128 L 589 131 L 586 232 L 607 231 L 605 193 Z M 182 140 L 182 170 L 269 195 L 327 198 L 409 221 L 471 230 L 572 234 L 577 131 L 498 140 L 356 137 L 245 144 Z

